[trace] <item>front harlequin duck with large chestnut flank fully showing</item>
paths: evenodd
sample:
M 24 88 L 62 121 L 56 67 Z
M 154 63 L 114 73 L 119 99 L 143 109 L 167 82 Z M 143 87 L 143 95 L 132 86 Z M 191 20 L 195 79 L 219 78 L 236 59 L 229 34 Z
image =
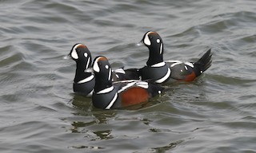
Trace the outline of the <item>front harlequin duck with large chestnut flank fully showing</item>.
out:
M 142 80 L 112 82 L 112 69 L 106 57 L 95 57 L 93 70 L 95 86 L 92 101 L 95 108 L 123 108 L 140 104 L 163 90 L 158 84 Z

